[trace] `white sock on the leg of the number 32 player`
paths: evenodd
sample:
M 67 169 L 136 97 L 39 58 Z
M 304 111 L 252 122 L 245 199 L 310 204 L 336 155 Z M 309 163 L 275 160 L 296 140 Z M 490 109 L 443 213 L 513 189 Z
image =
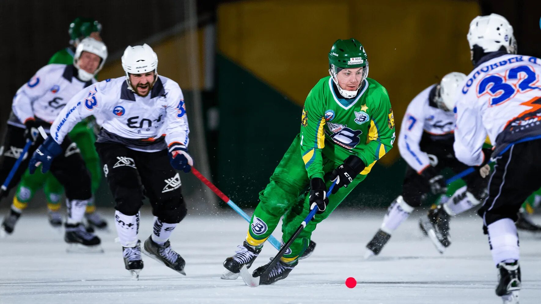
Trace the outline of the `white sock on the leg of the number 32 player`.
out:
M 497 220 L 487 226 L 489 229 L 489 244 L 492 260 L 498 266 L 499 262 L 518 260 L 517 227 L 509 218 Z

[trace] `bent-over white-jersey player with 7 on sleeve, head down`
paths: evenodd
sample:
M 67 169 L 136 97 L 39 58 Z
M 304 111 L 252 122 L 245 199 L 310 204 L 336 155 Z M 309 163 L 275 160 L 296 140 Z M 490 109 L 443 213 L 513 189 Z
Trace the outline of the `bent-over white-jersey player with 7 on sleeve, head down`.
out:
M 460 163 L 453 151 L 454 101 L 465 78 L 463 73 L 448 73 L 439 84 L 427 87 L 408 105 L 398 138 L 400 155 L 408 164 L 402 193 L 389 206 L 381 227 L 366 245 L 365 258 L 380 253 L 393 231 L 414 208 L 423 204 L 429 192 L 445 193 L 447 185 L 441 170 L 448 167 L 459 173 L 469 167 Z M 445 204 L 430 210 L 421 222 L 440 253 L 451 245 L 450 217 L 478 205 L 486 196 L 484 177 L 479 171 L 467 175 L 464 178 L 467 186 L 457 190 Z

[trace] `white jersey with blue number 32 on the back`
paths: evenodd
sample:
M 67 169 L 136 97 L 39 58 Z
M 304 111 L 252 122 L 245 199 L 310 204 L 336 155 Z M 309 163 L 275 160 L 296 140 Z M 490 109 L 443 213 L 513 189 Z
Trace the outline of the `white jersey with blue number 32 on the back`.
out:
M 541 59 L 494 52 L 457 92 L 454 151 L 461 162 L 483 163 L 488 134 L 493 156 L 510 145 L 541 137 Z

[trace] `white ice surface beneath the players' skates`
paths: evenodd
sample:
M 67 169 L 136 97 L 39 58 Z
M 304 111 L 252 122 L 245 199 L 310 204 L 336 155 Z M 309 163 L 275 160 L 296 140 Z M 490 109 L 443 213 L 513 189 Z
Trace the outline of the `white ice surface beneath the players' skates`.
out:
M 113 225 L 114 212 L 101 212 Z M 130 280 L 124 269 L 113 226 L 111 233 L 99 233 L 105 253 L 68 254 L 62 234 L 49 227 L 47 217 L 27 213 L 13 235 L 0 239 L 0 303 L 501 303 L 494 294 L 497 273 L 487 238 L 473 213 L 451 222 L 453 244 L 443 255 L 420 238 L 417 212 L 377 260 L 365 261 L 366 242 L 383 214 L 332 214 L 313 234 L 318 243 L 314 254 L 287 279 L 250 288 L 241 278 L 220 279 L 223 260 L 242 243 L 248 228 L 231 212 L 188 214 L 177 226 L 171 245 L 186 259 L 187 276 L 143 256 L 140 281 Z M 141 240 L 150 234 L 151 220 L 144 210 Z M 531 234 L 520 237 L 521 303 L 541 302 L 540 240 Z M 267 244 L 254 266 L 266 264 L 276 252 Z M 345 286 L 349 276 L 357 279 L 355 288 Z

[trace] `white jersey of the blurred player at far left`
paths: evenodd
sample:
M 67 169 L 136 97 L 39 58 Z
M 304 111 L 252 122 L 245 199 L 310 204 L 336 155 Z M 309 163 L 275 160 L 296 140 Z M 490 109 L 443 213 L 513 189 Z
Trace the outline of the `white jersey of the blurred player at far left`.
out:
M 24 127 L 25 121 L 34 118 L 51 124 L 72 96 L 96 82 L 83 82 L 76 75 L 71 64 L 48 64 L 39 69 L 15 94 L 11 106 L 15 117 L 11 116 L 8 124 Z

